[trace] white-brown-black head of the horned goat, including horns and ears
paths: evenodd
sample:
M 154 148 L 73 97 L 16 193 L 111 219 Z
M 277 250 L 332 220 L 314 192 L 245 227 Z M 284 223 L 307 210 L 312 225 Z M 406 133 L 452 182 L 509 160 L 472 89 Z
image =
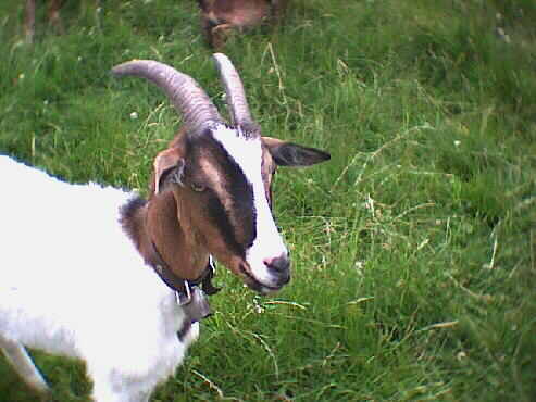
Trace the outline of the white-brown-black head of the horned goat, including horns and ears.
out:
M 272 216 L 276 166 L 306 166 L 329 154 L 262 137 L 230 61 L 214 54 L 232 124 L 189 76 L 149 60 L 123 63 L 116 75 L 145 77 L 163 89 L 185 121 L 183 134 L 154 160 L 151 200 L 176 208 L 177 226 L 208 253 L 262 293 L 290 279 L 288 250 Z

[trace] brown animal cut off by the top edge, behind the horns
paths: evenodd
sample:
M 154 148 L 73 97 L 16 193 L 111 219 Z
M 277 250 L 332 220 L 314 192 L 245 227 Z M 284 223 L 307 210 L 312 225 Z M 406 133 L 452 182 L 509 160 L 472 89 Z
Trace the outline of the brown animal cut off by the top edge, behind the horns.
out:
M 198 0 L 198 3 L 207 40 L 220 49 L 232 29 L 242 32 L 278 21 L 287 0 Z

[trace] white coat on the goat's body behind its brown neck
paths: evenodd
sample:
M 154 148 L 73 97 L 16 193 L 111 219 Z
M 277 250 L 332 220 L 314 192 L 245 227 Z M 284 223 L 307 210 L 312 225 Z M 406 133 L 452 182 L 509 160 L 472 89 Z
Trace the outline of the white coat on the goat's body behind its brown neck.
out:
M 0 347 L 35 388 L 22 344 L 86 361 L 96 401 L 147 401 L 199 327 L 179 342 L 183 310 L 121 227 L 133 194 L 2 155 L 0 177 Z

